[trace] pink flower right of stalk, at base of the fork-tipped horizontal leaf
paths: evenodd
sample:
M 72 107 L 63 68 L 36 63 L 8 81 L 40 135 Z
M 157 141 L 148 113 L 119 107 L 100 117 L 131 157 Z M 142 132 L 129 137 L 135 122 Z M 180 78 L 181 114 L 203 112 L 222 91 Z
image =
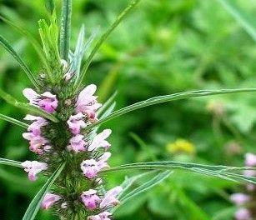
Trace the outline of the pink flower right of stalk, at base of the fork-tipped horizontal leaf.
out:
M 98 161 L 94 159 L 85 160 L 81 163 L 81 169 L 85 177 L 92 179 L 97 177 L 98 172 L 103 168 L 108 168 L 108 158 L 111 157 L 111 153 L 104 153 L 103 156 L 98 158 Z

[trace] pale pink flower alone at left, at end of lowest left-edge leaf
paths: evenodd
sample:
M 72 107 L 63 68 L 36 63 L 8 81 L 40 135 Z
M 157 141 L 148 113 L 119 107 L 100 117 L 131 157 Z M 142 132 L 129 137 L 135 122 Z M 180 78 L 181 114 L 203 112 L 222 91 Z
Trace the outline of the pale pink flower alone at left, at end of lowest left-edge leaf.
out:
M 25 161 L 22 163 L 24 170 L 28 173 L 28 178 L 31 181 L 37 180 L 37 174 L 48 168 L 47 163 L 38 161 Z

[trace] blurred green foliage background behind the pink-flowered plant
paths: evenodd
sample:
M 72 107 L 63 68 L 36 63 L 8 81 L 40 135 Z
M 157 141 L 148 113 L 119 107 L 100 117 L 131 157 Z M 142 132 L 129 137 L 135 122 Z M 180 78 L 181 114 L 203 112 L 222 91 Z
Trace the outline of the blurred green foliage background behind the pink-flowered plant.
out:
M 234 1 L 234 0 L 233 0 Z M 58 13 L 60 1 L 56 1 Z M 256 14 L 254 0 L 234 1 Z M 74 0 L 74 47 L 84 23 L 87 34 L 103 32 L 127 5 L 127 0 Z M 38 37 L 38 19 L 45 18 L 44 1 L 0 0 L 0 14 Z M 255 16 L 256 18 L 256 16 Z M 16 30 L 0 22 L 0 32 L 40 71 L 36 52 Z M 38 37 L 39 38 L 39 37 Z M 118 91 L 117 107 L 148 97 L 193 89 L 255 87 L 256 47 L 253 39 L 213 0 L 143 0 L 103 44 L 85 83 L 96 83 L 100 101 Z M 19 100 L 27 77 L 1 47 L 0 86 Z M 244 153 L 255 153 L 254 94 L 193 98 L 138 110 L 108 122 L 113 129 L 111 165 L 151 160 L 176 160 L 243 166 Z M 20 112 L 0 100 L 0 112 L 22 119 Z M 0 121 L 0 157 L 24 161 L 34 157 L 22 128 Z M 122 183 L 125 173 L 108 177 Z M 30 183 L 17 168 L 0 168 L 0 219 L 18 220 L 41 178 Z M 116 219 L 233 219 L 228 197 L 243 186 L 217 178 L 178 172 L 123 208 Z M 38 220 L 51 218 L 40 212 Z

